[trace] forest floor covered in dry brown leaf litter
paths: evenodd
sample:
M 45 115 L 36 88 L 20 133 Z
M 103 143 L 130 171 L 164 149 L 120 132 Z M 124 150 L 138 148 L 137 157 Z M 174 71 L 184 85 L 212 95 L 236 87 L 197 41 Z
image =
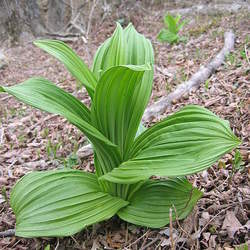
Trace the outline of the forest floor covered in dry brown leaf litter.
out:
M 240 165 L 235 161 L 235 151 L 231 152 L 207 171 L 189 177 L 204 195 L 184 221 L 173 224 L 175 246 L 177 249 L 248 249 L 249 13 L 184 16 L 188 23 L 182 34 L 187 41 L 178 45 L 160 43 L 156 39 L 163 27 L 164 13 L 165 10 L 159 8 L 150 12 L 141 9 L 131 17 L 136 29 L 152 41 L 155 51 L 158 70 L 155 72 L 150 103 L 173 91 L 201 65 L 207 64 L 223 47 L 225 31 L 233 29 L 236 41 L 235 50 L 215 74 L 196 91 L 174 101 L 157 119 L 190 103 L 207 107 L 230 122 L 234 133 L 242 140 L 239 151 L 243 158 Z M 112 18 L 97 23 L 92 27 L 88 44 L 79 40 L 70 46 L 91 65 L 96 49 L 114 28 Z M 5 53 L 9 62 L 6 68 L 0 69 L 1 84 L 14 85 L 32 76 L 42 76 L 73 93 L 84 103 L 89 103 L 86 92 L 79 88 L 65 68 L 32 43 L 6 48 Z M 65 165 L 92 171 L 93 160 L 92 157 L 77 159 L 76 152 L 87 143 L 86 138 L 59 116 L 38 111 L 12 97 L 1 95 L 0 117 L 0 231 L 4 231 L 15 227 L 8 199 L 11 188 L 24 174 Z M 50 249 L 170 249 L 169 232 L 169 226 L 153 230 L 114 217 L 72 237 L 1 238 L 0 249 L 44 249 L 47 245 Z

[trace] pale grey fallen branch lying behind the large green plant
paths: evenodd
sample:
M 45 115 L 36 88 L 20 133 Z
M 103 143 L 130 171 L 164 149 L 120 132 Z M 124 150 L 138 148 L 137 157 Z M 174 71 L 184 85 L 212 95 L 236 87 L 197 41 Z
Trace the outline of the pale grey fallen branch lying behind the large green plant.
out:
M 160 98 L 157 102 L 149 106 L 143 115 L 142 121 L 148 122 L 156 116 L 162 114 L 168 107 L 171 106 L 173 100 L 178 100 L 185 93 L 189 93 L 193 89 L 197 89 L 201 83 L 205 82 L 224 62 L 225 56 L 234 48 L 235 35 L 232 31 L 225 32 L 224 46 L 215 58 L 206 66 L 201 66 L 190 80 L 181 83 L 175 91 L 169 95 Z M 87 158 L 92 155 L 91 145 L 86 145 L 80 148 L 77 152 L 78 157 Z

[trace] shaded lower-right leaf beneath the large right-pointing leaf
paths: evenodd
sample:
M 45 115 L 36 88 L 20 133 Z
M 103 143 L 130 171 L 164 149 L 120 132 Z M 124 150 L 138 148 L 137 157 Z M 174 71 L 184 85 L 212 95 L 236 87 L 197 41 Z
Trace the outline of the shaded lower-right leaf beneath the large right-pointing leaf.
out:
M 201 196 L 202 192 L 184 178 L 148 180 L 129 197 L 130 204 L 117 214 L 127 222 L 159 228 L 169 223 L 170 208 L 173 220 L 183 219 Z

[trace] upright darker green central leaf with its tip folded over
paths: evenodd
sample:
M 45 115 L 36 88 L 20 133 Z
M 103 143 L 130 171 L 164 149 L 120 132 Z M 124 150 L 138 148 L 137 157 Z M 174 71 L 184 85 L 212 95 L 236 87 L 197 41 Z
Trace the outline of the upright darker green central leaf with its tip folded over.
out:
M 141 80 L 144 71 L 150 69 L 150 66 L 113 67 L 103 74 L 96 87 L 92 122 L 118 145 L 121 155 L 133 143 L 146 107 L 148 95 Z

